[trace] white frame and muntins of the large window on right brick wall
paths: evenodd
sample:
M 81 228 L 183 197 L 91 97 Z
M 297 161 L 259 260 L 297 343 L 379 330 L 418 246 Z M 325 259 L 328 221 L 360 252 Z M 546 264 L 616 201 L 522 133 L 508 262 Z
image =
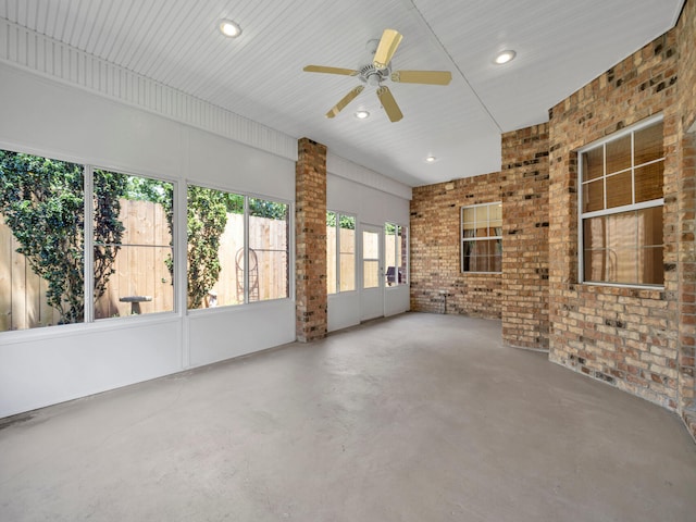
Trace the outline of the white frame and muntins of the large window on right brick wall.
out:
M 658 198 L 658 199 L 652 199 L 650 201 L 642 201 L 639 203 L 632 203 L 632 204 L 624 204 L 622 207 L 612 207 L 611 209 L 607 209 L 607 175 L 606 175 L 606 166 L 607 166 L 607 154 L 606 154 L 606 150 L 604 156 L 604 161 L 605 161 L 605 165 L 604 165 L 604 175 L 602 175 L 602 179 L 604 179 L 604 210 L 596 210 L 596 211 L 592 211 L 592 212 L 583 212 L 583 187 L 584 185 L 591 183 L 591 181 L 585 181 L 583 177 L 583 161 L 582 161 L 582 154 L 589 152 L 591 150 L 597 149 L 599 147 L 604 147 L 606 149 L 607 144 L 611 142 L 611 141 L 616 141 L 618 139 L 621 139 L 627 135 L 631 135 L 631 166 L 629 169 L 624 169 L 623 171 L 617 172 L 617 173 L 612 173 L 611 175 L 618 175 L 618 174 L 622 174 L 625 172 L 631 172 L 631 183 L 632 183 L 632 189 L 631 189 L 631 197 L 632 199 L 635 199 L 635 138 L 634 135 L 636 132 L 649 127 L 651 125 L 655 125 L 659 122 L 663 121 L 663 115 L 662 114 L 658 114 L 656 116 L 652 117 L 648 117 L 635 125 L 631 125 L 630 127 L 623 128 L 617 133 L 611 134 L 610 136 L 607 136 L 605 138 L 598 139 L 596 141 L 593 141 L 592 144 L 588 144 L 584 147 L 581 147 L 580 149 L 577 149 L 577 281 L 581 284 L 585 284 L 585 285 L 594 285 L 594 286 L 613 286 L 613 287 L 627 287 L 627 288 L 648 288 L 648 289 L 663 289 L 664 285 L 644 285 L 644 284 L 637 284 L 637 283 L 610 283 L 610 282 L 598 282 L 598 281 L 585 281 L 585 262 L 584 262 L 584 258 L 585 258 L 585 250 L 584 250 L 584 227 L 583 227 L 583 222 L 584 220 L 588 220 L 591 217 L 598 217 L 598 216 L 602 216 L 602 215 L 613 215 L 613 214 L 620 214 L 623 212 L 631 212 L 631 211 L 636 211 L 636 210 L 643 210 L 643 209 L 649 209 L 649 208 L 655 208 L 655 207 L 664 207 L 664 198 Z M 647 163 L 641 163 L 639 166 L 644 166 L 644 165 L 649 165 L 652 163 L 658 163 L 658 162 L 664 162 L 664 157 L 662 157 L 659 160 L 654 160 L 651 162 L 647 162 Z M 595 179 L 593 179 L 595 181 Z

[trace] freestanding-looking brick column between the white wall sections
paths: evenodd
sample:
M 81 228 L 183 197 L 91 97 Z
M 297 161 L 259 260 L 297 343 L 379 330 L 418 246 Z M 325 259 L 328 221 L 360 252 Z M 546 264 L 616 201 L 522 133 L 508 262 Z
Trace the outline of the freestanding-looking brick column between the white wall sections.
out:
M 301 138 L 295 169 L 297 340 L 326 336 L 326 147 Z

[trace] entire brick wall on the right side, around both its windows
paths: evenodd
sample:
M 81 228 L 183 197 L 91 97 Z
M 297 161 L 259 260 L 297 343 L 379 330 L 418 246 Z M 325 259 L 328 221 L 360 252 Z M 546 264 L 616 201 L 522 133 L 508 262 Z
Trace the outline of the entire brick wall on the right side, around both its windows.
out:
M 508 345 L 683 413 L 696 438 L 696 1 L 678 26 L 502 136 L 501 172 L 418 187 L 411 309 L 500 318 Z M 664 289 L 580 285 L 576 150 L 663 114 Z M 691 133 L 689 133 L 691 130 Z M 502 201 L 502 274 L 462 274 L 459 210 Z

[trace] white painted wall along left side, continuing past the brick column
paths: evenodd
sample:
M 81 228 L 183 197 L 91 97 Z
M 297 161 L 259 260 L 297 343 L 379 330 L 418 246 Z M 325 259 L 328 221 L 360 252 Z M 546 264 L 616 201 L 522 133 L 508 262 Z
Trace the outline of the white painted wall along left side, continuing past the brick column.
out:
M 99 75 L 57 82 L 22 67 L 0 61 L 0 148 L 178 182 L 179 201 L 186 182 L 295 200 L 294 138 L 109 64 L 92 69 L 163 98 L 130 99 Z M 327 161 L 330 209 L 359 223 L 409 223 L 409 187 L 331 153 Z M 183 256 L 181 226 L 178 238 Z M 185 313 L 179 289 L 177 302 L 171 314 L 0 333 L 0 418 L 295 340 L 293 299 Z M 407 287 L 386 290 L 386 315 L 408 304 Z M 331 296 L 328 308 L 330 331 L 360 322 L 359 291 Z

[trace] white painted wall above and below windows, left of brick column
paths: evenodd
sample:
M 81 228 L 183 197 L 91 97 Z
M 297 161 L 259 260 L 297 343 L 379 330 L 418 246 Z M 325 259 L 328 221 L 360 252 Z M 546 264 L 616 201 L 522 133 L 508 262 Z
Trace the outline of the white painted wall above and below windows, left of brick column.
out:
M 293 159 L 1 63 L 0 114 L 1 148 L 295 200 Z M 0 418 L 293 340 L 293 299 L 0 333 Z

